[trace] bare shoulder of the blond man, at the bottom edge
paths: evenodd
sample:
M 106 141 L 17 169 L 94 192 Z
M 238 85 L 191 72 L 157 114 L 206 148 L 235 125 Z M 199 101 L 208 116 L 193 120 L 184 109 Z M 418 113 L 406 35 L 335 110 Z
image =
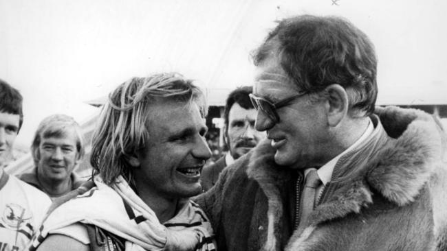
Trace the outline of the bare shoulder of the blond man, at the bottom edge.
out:
M 45 250 L 68 250 L 68 251 L 89 251 L 89 245 L 86 245 L 67 235 L 49 235 L 37 248 L 37 251 Z

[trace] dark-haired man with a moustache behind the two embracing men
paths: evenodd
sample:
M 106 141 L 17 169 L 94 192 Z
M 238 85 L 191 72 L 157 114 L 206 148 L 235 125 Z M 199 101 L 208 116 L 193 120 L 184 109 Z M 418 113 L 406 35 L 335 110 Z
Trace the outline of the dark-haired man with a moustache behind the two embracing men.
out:
M 219 178 L 219 174 L 237 158 L 252 150 L 259 141 L 265 139 L 265 132 L 254 129 L 257 111 L 250 101 L 252 86 L 242 86 L 232 91 L 226 99 L 223 119 L 223 139 L 228 148 L 225 156 L 216 163 L 204 167 L 201 174 L 201 184 L 204 191 L 208 191 Z

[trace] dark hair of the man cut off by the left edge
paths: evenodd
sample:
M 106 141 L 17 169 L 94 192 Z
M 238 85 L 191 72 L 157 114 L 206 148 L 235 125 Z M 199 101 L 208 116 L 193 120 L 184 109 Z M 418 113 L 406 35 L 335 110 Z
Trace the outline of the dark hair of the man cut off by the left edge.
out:
M 19 115 L 19 130 L 23 123 L 23 97 L 16 88 L 0 79 L 0 112 Z

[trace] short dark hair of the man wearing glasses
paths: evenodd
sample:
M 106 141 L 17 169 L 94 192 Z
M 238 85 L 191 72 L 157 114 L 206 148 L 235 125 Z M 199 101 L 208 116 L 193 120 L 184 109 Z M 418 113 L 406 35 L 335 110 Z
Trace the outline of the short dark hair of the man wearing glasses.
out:
M 254 64 L 274 56 L 300 90 L 318 93 L 340 84 L 347 90 L 351 113 L 373 112 L 378 94 L 375 49 L 349 21 L 311 15 L 283 19 L 254 51 Z

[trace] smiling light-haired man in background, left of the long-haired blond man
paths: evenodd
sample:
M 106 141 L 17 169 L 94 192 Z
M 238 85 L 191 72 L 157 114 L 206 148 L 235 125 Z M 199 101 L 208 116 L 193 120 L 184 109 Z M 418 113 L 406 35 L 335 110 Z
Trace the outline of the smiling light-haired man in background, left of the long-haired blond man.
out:
M 85 146 L 79 124 L 67 115 L 43 119 L 31 146 L 35 168 L 20 179 L 57 198 L 77 189 L 84 180 L 74 169 L 83 160 Z

